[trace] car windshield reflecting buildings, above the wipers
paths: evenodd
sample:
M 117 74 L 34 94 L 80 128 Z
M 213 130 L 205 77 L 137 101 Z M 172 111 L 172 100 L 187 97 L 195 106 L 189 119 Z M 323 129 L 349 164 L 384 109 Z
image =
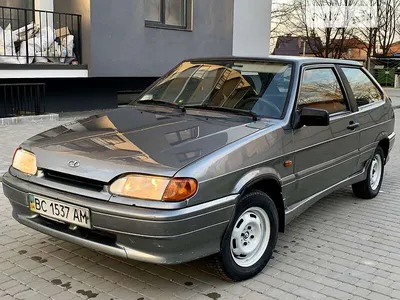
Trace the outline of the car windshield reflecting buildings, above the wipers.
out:
M 281 62 L 184 62 L 136 102 L 222 107 L 280 118 L 291 74 L 291 64 Z

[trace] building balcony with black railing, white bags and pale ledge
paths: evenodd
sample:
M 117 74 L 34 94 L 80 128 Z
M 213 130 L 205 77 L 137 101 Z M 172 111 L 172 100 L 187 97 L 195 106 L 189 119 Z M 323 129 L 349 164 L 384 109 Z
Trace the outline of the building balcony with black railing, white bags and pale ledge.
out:
M 0 6 L 0 27 L 0 78 L 88 76 L 81 15 Z

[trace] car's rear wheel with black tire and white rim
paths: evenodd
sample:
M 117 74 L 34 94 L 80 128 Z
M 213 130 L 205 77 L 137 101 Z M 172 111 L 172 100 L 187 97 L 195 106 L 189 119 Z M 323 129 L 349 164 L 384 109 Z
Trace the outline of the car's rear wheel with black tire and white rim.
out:
M 352 186 L 354 195 L 362 199 L 375 198 L 379 194 L 382 186 L 384 169 L 385 154 L 383 149 L 378 146 L 368 167 L 367 178 Z

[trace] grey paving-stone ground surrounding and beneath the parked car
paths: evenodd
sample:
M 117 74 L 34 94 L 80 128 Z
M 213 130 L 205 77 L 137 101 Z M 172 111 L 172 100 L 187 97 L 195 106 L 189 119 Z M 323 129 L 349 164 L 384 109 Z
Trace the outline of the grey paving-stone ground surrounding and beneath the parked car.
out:
M 19 142 L 55 125 L 0 127 L 0 172 Z M 356 199 L 349 188 L 322 199 L 280 234 L 260 275 L 235 284 L 204 260 L 145 264 L 35 232 L 11 218 L 0 192 L 0 299 L 400 299 L 399 167 L 397 143 L 376 199 Z

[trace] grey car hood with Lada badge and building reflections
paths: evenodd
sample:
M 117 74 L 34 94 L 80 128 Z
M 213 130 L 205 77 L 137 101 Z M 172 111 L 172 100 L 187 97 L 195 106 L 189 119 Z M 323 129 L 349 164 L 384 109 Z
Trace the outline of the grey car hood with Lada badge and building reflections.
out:
M 173 176 L 179 169 L 268 126 L 247 117 L 206 117 L 125 107 L 43 132 L 22 147 L 38 167 L 109 182 L 126 173 Z M 208 113 L 208 112 L 207 112 Z M 71 161 L 79 166 L 70 166 Z

